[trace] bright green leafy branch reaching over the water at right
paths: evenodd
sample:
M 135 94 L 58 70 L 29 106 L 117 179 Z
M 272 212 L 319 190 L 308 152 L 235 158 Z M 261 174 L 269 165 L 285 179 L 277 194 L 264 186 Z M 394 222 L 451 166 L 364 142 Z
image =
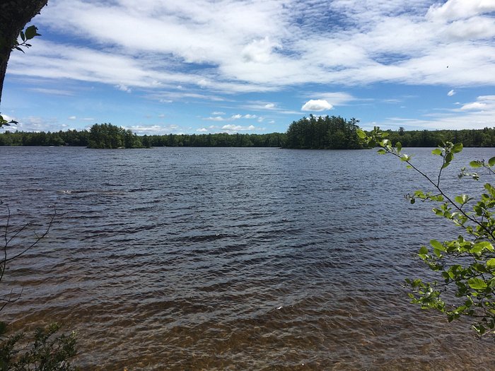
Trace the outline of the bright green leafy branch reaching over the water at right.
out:
M 429 177 L 413 165 L 411 156 L 402 153 L 402 144 L 392 146 L 387 133 L 375 127 L 371 134 L 358 132 L 368 146 L 379 146 L 378 153 L 394 155 L 407 163 L 407 167 L 419 173 L 431 185 L 431 192 L 422 190 L 409 195 L 414 204 L 416 199 L 430 201 L 435 206 L 433 213 L 450 220 L 460 229 L 460 235 L 451 240 L 430 240 L 430 247 L 422 246 L 418 256 L 424 264 L 435 272 L 438 281 L 424 282 L 421 278 L 406 279 L 412 293 L 412 302 L 424 309 L 433 309 L 447 315 L 448 321 L 470 318 L 479 336 L 495 334 L 495 187 L 484 184 L 484 192 L 477 201 L 474 196 L 460 194 L 450 196 L 442 183 L 442 171 L 462 151 L 462 143 L 444 142 L 432 151 L 441 158 L 441 166 L 436 177 Z M 486 170 L 487 175 L 495 175 L 495 157 L 488 161 L 474 160 L 472 167 Z M 460 177 L 479 179 L 477 173 L 462 168 Z

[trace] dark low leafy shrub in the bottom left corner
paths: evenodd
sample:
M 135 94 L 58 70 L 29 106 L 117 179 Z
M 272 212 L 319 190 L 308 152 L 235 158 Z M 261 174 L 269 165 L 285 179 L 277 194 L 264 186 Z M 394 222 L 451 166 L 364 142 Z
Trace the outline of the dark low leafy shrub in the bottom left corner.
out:
M 0 338 L 4 337 L 5 329 L 0 329 Z M 76 355 L 76 333 L 66 336 L 59 334 L 59 329 L 57 323 L 35 329 L 30 346 L 25 346 L 23 333 L 5 338 L 0 343 L 0 371 L 77 370 L 69 362 Z

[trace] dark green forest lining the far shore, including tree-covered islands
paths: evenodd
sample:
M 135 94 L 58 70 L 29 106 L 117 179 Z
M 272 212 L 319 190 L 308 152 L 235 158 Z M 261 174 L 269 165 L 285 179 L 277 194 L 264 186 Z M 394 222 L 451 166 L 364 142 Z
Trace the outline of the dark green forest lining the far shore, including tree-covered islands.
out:
M 165 134 L 138 136 L 112 124 L 94 124 L 89 130 L 53 132 L 4 131 L 0 146 L 83 146 L 88 148 L 150 147 L 276 147 L 306 149 L 363 148 L 356 135 L 359 121 L 342 117 L 303 117 L 286 133 L 270 134 Z M 12 127 L 12 126 L 11 126 Z M 495 147 L 495 127 L 462 130 L 385 130 L 392 143 L 404 147 L 435 147 L 441 141 L 465 147 Z

